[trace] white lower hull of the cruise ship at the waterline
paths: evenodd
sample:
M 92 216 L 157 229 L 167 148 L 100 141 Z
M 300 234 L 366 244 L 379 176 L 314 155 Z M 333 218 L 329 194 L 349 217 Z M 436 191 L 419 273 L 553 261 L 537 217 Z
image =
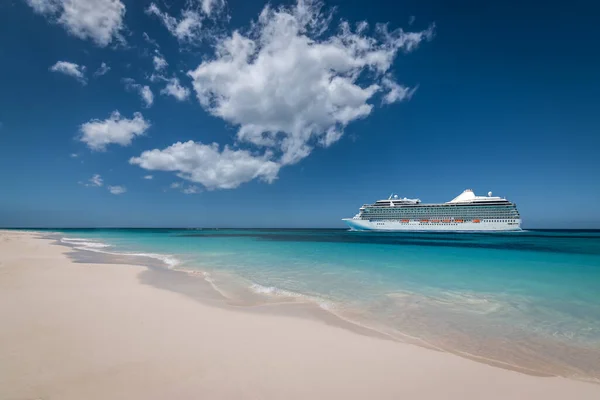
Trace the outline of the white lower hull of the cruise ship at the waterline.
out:
M 357 231 L 388 231 L 388 232 L 506 232 L 520 231 L 521 220 L 513 222 L 450 222 L 431 223 L 421 221 L 369 221 L 358 218 L 344 218 L 343 221 L 352 230 Z

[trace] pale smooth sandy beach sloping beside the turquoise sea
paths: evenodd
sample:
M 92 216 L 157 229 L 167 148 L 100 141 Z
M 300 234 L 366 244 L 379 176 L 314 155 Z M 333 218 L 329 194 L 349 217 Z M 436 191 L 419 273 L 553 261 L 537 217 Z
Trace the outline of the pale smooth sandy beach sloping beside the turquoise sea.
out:
M 600 399 L 309 318 L 214 307 L 0 231 L 0 399 Z

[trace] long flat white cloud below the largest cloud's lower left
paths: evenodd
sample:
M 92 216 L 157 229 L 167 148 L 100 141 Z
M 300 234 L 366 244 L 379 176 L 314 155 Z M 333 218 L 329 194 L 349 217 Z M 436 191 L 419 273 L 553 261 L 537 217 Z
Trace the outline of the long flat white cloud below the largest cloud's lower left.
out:
M 280 166 L 269 158 L 270 154 L 255 156 L 228 146 L 221 151 L 216 143 L 205 145 L 190 140 L 163 150 L 144 151 L 129 162 L 147 170 L 177 172 L 180 178 L 213 190 L 233 189 L 257 178 L 273 182 Z

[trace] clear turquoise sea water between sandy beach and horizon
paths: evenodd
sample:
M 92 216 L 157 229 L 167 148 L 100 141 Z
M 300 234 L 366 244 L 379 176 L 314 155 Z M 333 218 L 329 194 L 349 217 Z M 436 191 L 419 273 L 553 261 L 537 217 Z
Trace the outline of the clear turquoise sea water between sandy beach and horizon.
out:
M 106 229 L 60 238 L 202 271 L 237 304 L 312 302 L 398 340 L 600 378 L 600 232 Z

